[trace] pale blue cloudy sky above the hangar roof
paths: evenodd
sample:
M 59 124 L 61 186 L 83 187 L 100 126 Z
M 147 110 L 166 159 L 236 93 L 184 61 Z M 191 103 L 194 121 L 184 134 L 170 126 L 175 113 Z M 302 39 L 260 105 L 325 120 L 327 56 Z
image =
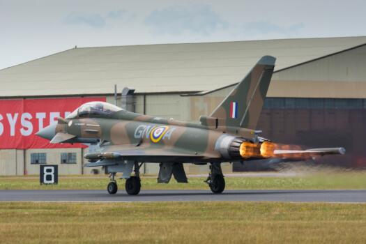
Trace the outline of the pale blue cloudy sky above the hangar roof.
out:
M 0 69 L 75 47 L 366 36 L 366 1 L 0 0 Z

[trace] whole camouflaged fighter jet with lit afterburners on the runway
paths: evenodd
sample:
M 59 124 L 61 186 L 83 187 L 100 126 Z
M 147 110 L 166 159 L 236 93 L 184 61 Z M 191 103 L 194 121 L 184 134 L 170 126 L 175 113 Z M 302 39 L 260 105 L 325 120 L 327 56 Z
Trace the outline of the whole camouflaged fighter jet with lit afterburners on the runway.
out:
M 221 193 L 225 188 L 222 162 L 344 154 L 342 147 L 281 150 L 259 136 L 257 122 L 274 67 L 275 58 L 263 56 L 210 116 L 200 117 L 199 123 L 128 112 L 107 102 L 88 102 L 37 135 L 52 144 L 99 144 L 98 153 L 84 155 L 89 160 L 85 167 L 105 167 L 110 174 L 109 194 L 118 190 L 116 173 L 126 179 L 128 195 L 139 194 L 139 169 L 144 163 L 160 164 L 158 183 L 169 183 L 172 175 L 179 183 L 188 183 L 183 163 L 208 164 L 206 183 L 213 193 Z

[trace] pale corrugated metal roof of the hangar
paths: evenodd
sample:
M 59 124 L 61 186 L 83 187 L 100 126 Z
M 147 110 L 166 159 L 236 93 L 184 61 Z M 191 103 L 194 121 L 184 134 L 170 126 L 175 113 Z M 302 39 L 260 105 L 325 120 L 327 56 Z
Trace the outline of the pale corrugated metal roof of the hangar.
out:
M 83 47 L 0 70 L 0 97 L 218 89 L 240 81 L 264 55 L 276 70 L 366 43 L 365 37 Z

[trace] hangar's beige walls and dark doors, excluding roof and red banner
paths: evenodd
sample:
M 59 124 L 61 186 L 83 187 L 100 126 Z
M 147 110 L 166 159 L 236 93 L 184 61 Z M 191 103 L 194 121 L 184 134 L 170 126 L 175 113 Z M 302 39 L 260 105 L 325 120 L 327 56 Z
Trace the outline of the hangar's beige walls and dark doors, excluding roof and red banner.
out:
M 277 142 L 305 142 L 309 146 L 330 146 L 330 141 L 346 142 L 337 146 L 346 146 L 349 153 L 358 152 L 357 158 L 350 158 L 347 161 L 363 165 L 366 162 L 366 155 L 363 154 L 365 150 L 362 146 L 363 138 L 366 136 L 363 128 L 366 123 L 366 102 L 363 100 L 366 98 L 365 64 L 366 46 L 361 45 L 278 70 L 273 75 L 266 107 L 261 114 L 258 128 L 264 130 L 265 137 Z M 236 81 L 233 80 L 233 82 Z M 118 85 L 119 88 L 123 87 L 123 84 Z M 210 114 L 233 87 L 234 85 L 188 96 L 181 96 L 180 92 L 138 93 L 139 91 L 136 91 L 135 112 L 181 121 L 199 121 L 199 116 Z M 210 89 L 207 87 L 207 90 Z M 106 98 L 107 102 L 114 103 L 114 96 L 107 95 Z M 310 102 L 306 100 L 307 98 L 326 100 Z M 322 104 L 322 107 L 319 107 L 319 104 Z M 306 135 L 309 137 L 305 137 Z M 342 136 L 335 138 L 335 135 Z M 320 141 L 319 138 L 329 139 L 326 142 L 314 144 L 310 136 L 317 138 L 318 141 Z M 75 164 L 61 164 L 60 154 L 66 151 L 76 153 Z M 60 174 L 92 174 L 93 169 L 82 168 L 84 164 L 82 153 L 86 151 L 88 149 L 80 148 L 25 151 L 2 149 L 0 150 L 0 174 L 38 174 L 38 166 L 31 165 L 30 157 L 31 153 L 39 152 L 47 153 L 47 163 L 60 165 Z M 342 164 L 342 162 L 339 163 Z M 208 171 L 206 167 L 196 165 L 185 165 L 185 167 L 188 173 L 206 174 Z M 144 171 L 147 174 L 156 174 L 158 165 L 148 164 Z M 231 171 L 231 166 L 225 165 L 224 171 Z

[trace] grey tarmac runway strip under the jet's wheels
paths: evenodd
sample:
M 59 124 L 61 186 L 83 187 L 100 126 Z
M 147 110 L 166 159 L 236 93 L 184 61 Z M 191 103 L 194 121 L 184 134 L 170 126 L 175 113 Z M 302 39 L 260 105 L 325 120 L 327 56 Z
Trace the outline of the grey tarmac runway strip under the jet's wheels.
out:
M 291 201 L 366 203 L 366 190 L 142 190 L 129 196 L 123 190 L 0 190 L 0 201 Z

